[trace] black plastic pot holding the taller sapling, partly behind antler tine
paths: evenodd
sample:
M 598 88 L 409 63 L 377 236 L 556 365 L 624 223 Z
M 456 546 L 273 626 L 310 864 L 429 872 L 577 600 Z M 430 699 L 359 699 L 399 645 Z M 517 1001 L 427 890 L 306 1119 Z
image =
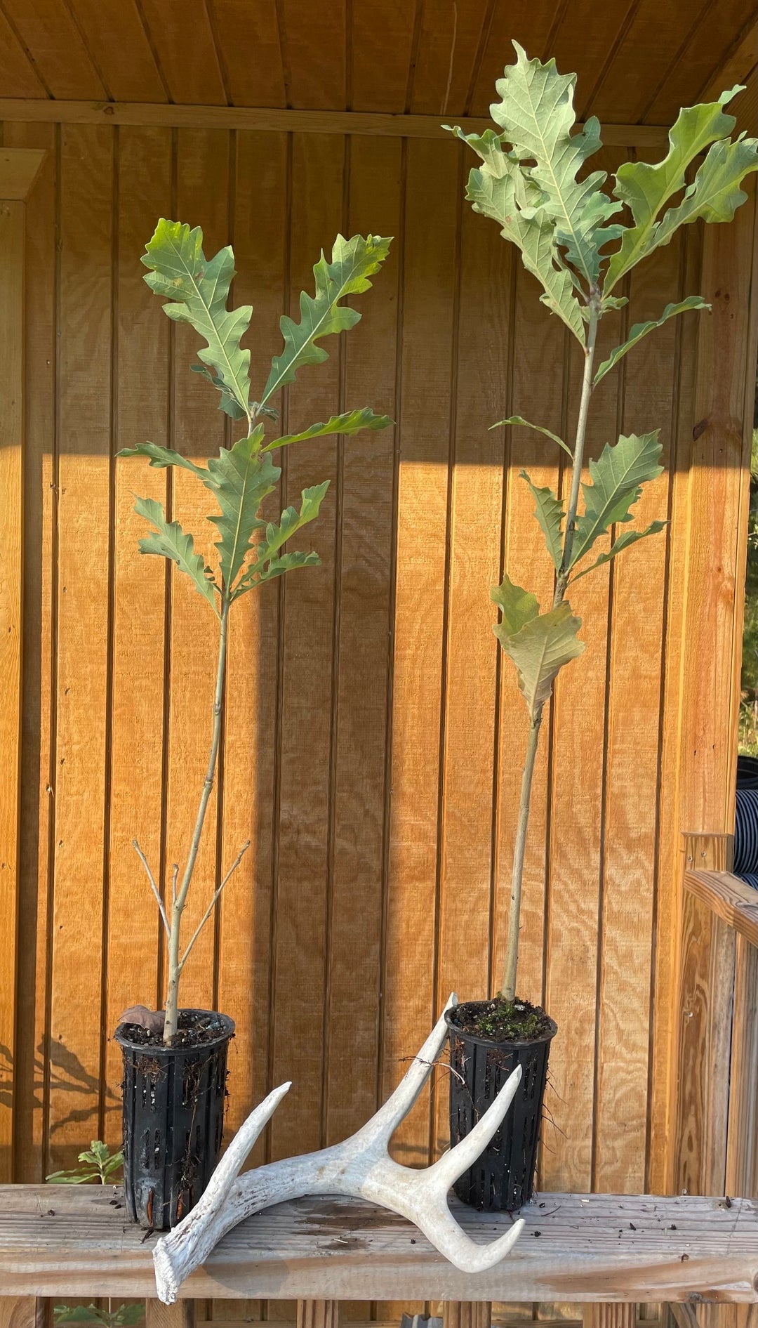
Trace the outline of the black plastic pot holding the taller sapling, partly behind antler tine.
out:
M 522 1066 L 522 1081 L 500 1129 L 474 1166 L 455 1182 L 454 1190 L 463 1203 L 475 1208 L 515 1212 L 534 1193 L 547 1058 L 558 1025 L 550 1020 L 548 1031 L 528 1042 L 493 1042 L 457 1027 L 457 1019 L 490 1008 L 490 1001 L 467 1001 L 445 1016 L 453 1066 L 450 1146 L 473 1130 L 516 1065 Z

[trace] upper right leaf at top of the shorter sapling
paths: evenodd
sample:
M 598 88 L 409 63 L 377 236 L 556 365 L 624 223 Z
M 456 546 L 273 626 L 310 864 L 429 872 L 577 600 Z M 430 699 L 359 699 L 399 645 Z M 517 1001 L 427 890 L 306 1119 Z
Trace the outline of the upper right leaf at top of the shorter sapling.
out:
M 337 235 L 332 247 L 332 259 L 327 263 L 324 251 L 313 268 L 316 293 L 300 293 L 300 323 L 288 315 L 280 319 L 284 351 L 271 361 L 271 373 L 260 404 L 279 392 L 304 364 L 321 364 L 328 359 L 327 351 L 316 345 L 323 336 L 345 332 L 356 325 L 361 315 L 357 309 L 340 304 L 348 295 L 360 295 L 370 287 L 369 276 L 378 272 L 389 252 L 392 239 L 381 235 L 353 235 L 346 240 Z

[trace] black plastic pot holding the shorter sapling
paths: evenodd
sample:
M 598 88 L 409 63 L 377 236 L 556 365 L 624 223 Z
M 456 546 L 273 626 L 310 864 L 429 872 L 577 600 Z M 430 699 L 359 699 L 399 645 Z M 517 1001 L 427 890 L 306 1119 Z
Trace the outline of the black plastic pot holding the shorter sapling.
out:
M 214 1011 L 181 1011 L 179 1028 L 191 1027 L 212 1036 L 194 1046 L 163 1046 L 139 1041 L 133 1024 L 115 1031 L 123 1052 L 126 1207 L 133 1222 L 154 1231 L 182 1220 L 220 1157 L 234 1023 Z

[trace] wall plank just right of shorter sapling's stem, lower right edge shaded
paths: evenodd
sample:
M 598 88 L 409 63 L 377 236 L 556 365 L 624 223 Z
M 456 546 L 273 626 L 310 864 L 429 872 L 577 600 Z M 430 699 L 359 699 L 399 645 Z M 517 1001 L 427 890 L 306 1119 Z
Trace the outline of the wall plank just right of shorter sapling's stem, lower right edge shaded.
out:
M 259 398 L 267 363 L 281 345 L 287 264 L 285 134 L 236 135 L 235 211 L 231 240 L 238 276 L 232 303 L 252 304 L 252 396 Z M 258 205 L 265 198 L 265 207 Z M 279 406 L 280 402 L 276 402 Z M 268 424 L 271 437 L 277 424 Z M 273 458 L 276 461 L 276 458 Z M 281 511 L 280 491 L 265 513 Z M 305 574 L 308 575 L 308 572 Z M 317 575 L 317 572 L 316 572 Z M 227 710 L 224 733 L 224 803 L 222 859 L 231 863 L 242 845 L 251 847 L 222 896 L 218 963 L 218 1009 L 236 1024 L 230 1049 L 224 1131 L 239 1127 L 268 1089 L 271 857 L 276 764 L 276 664 L 280 619 L 279 584 L 240 599 L 230 615 Z M 260 1138 L 251 1161 L 264 1161 Z

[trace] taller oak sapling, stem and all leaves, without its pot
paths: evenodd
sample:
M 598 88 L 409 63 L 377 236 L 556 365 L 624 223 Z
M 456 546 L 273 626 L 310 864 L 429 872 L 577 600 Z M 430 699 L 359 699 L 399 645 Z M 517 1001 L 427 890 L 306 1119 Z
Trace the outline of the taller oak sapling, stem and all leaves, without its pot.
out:
M 514 48 L 516 61 L 495 84 L 499 101 L 490 106 L 499 131 L 487 129 L 483 134 L 465 134 L 459 127 L 445 127 L 469 143 L 481 158 L 482 165 L 469 175 L 466 198 L 475 212 L 498 222 L 500 234 L 519 248 L 526 270 L 543 287 L 540 300 L 579 341 L 583 372 L 573 446 L 520 416 L 499 421 L 499 425 L 536 429 L 571 457 L 567 503 L 551 489 L 534 485 L 528 474 L 520 471 L 535 501 L 535 515 L 555 567 L 552 604 L 540 612 L 536 596 L 514 586 L 508 576 L 493 590 L 500 612 L 494 631 L 516 667 L 528 709 L 500 992 L 508 1003 L 516 996 L 524 850 L 543 710 L 559 671 L 584 649 L 577 639 L 581 622 L 571 611 L 567 590 L 580 576 L 665 526 L 665 522 L 654 521 L 645 530 L 624 530 L 616 534 L 607 551 L 593 562 L 587 560 L 603 535 L 632 519 L 632 507 L 640 498 L 643 485 L 662 470 L 660 430 L 656 429 L 621 436 L 617 442 L 607 444 L 600 457 L 589 461 L 589 481 L 583 482 L 592 393 L 649 332 L 678 313 L 708 309 L 709 305 L 698 295 L 678 304 L 666 304 L 658 319 L 636 323 L 627 340 L 596 368 L 597 327 L 607 313 L 628 303 L 624 293 L 613 293 L 623 291 L 620 283 L 627 274 L 654 250 L 668 244 L 680 226 L 698 218 L 705 222 L 731 220 L 735 208 L 746 199 L 739 182 L 758 169 L 757 139 L 741 134 L 733 141 L 730 135 L 735 120 L 723 112 L 723 106 L 742 90 L 738 86 L 722 93 L 718 101 L 681 110 L 669 133 L 665 158 L 657 165 L 625 162 L 616 173 L 613 197 L 609 197 L 603 189 L 605 171 L 579 178 L 601 142 L 595 117 L 575 131 L 576 76 L 559 74 L 555 60 L 544 65 L 539 60 L 528 60 L 516 42 Z M 702 153 L 705 157 L 697 166 L 694 179 L 688 183 L 688 169 Z M 631 214 L 629 220 L 612 220 L 624 208 Z M 620 242 L 617 247 L 605 252 L 615 242 Z

